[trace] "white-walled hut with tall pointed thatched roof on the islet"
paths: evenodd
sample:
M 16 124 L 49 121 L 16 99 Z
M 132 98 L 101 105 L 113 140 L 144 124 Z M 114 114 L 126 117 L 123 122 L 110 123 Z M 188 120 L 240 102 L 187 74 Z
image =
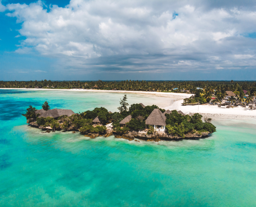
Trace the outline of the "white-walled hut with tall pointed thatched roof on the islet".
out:
M 155 131 L 164 132 L 166 126 L 165 120 L 165 115 L 159 109 L 154 109 L 146 119 L 146 128 L 149 129 L 149 126 L 152 126 Z

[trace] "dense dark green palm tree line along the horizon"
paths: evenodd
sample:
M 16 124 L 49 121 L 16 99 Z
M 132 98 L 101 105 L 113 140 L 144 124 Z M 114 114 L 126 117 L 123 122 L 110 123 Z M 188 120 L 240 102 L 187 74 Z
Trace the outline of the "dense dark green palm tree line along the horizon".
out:
M 47 87 L 48 86 L 48 87 Z M 134 90 L 134 91 L 174 91 L 188 90 L 196 92 L 196 88 L 212 90 L 236 91 L 238 88 L 251 91 L 256 87 L 253 81 L 0 81 L 1 88 L 57 88 L 57 89 L 101 89 L 101 90 Z M 175 89 L 175 90 L 173 90 Z

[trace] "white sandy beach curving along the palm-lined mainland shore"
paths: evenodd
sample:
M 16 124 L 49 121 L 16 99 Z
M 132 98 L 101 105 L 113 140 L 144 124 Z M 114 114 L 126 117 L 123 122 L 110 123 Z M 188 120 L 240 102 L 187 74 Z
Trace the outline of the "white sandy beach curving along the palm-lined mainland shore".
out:
M 256 110 L 250 110 L 249 108 L 243 107 L 218 107 L 217 105 L 187 105 L 183 106 L 183 99 L 190 97 L 193 94 L 185 93 L 164 93 L 164 92 L 149 92 L 149 91 L 127 91 L 127 90 L 91 90 L 91 89 L 34 89 L 34 88 L 0 88 L 5 90 L 65 90 L 65 91 L 83 91 L 83 92 L 111 92 L 111 93 L 140 93 L 157 95 L 161 97 L 168 97 L 173 99 L 180 99 L 175 101 L 173 104 L 168 105 L 169 101 L 166 102 L 164 109 L 169 110 L 181 110 L 185 114 L 200 113 L 203 117 L 209 117 L 213 119 L 256 119 Z M 165 103 L 163 103 L 165 105 Z

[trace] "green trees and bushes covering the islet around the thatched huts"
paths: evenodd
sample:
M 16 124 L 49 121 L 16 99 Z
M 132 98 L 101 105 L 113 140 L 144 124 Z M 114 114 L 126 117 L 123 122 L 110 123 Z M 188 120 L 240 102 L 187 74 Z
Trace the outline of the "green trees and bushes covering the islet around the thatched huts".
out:
M 35 122 L 38 127 L 55 127 L 56 129 L 62 130 L 79 130 L 81 133 L 105 133 L 107 128 L 105 124 L 112 123 L 113 131 L 117 134 L 124 134 L 128 131 L 139 131 L 145 130 L 146 124 L 145 120 L 151 114 L 154 109 L 159 109 L 162 113 L 165 112 L 164 109 L 159 108 L 156 105 L 142 107 L 141 104 L 129 104 L 127 103 L 126 95 L 120 101 L 120 107 L 118 107 L 119 112 L 109 113 L 104 107 L 95 108 L 94 110 L 87 110 L 82 113 L 76 113 L 70 117 L 63 115 L 54 119 L 52 117 L 40 117 L 36 114 L 35 107 L 31 105 L 27 108 L 26 113 L 22 114 L 28 120 L 28 123 Z M 50 108 L 48 103 L 45 102 L 43 107 L 47 106 Z M 125 126 L 120 126 L 119 122 L 123 120 L 128 115 L 131 115 L 131 120 L 125 124 Z M 102 126 L 93 126 L 93 119 L 98 117 L 102 123 Z M 211 124 L 211 119 L 205 119 L 203 122 L 202 116 L 198 113 L 193 116 L 182 115 L 176 110 L 172 110 L 170 114 L 166 113 L 166 133 L 185 137 L 187 133 L 203 133 L 216 131 L 216 127 Z M 147 134 L 153 134 L 153 127 L 149 127 Z

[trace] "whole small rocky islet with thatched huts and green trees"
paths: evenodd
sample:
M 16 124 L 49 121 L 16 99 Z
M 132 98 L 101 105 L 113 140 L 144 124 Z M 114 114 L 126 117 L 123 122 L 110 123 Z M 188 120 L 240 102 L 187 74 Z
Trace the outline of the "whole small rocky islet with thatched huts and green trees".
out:
M 199 113 L 189 116 L 182 111 L 164 110 L 156 105 L 145 106 L 142 103 L 131 104 L 128 108 L 126 95 L 120 100 L 119 112 L 114 113 L 104 107 L 82 113 L 50 109 L 45 101 L 42 109 L 37 110 L 30 105 L 22 115 L 30 126 L 45 132 L 80 132 L 90 138 L 114 135 L 127 140 L 182 140 L 204 138 L 216 131 L 211 119 L 205 118 L 203 122 Z

